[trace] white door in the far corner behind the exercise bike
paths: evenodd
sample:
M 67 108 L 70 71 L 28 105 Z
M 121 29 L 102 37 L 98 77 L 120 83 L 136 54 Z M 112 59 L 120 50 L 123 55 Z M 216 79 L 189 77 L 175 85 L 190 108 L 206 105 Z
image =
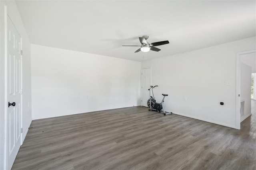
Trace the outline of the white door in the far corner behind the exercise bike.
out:
M 148 107 L 149 88 L 151 86 L 151 71 L 150 68 L 142 68 L 141 72 L 141 105 Z

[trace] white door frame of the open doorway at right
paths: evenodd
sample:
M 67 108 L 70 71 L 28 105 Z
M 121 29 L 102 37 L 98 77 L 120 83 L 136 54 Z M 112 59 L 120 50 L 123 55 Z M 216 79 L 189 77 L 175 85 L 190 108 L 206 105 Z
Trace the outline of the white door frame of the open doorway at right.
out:
M 236 129 L 240 129 L 240 92 L 241 92 L 241 64 L 240 57 L 244 54 L 256 53 L 256 49 L 236 53 Z

